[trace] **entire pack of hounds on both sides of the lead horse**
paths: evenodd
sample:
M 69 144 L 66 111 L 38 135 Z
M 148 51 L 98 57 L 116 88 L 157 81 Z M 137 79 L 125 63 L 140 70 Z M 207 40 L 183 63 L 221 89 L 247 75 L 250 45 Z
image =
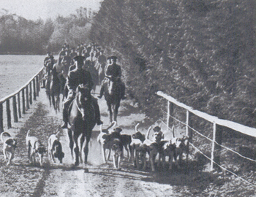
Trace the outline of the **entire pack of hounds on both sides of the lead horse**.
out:
M 133 163 L 137 169 L 149 168 L 151 171 L 156 171 L 162 166 L 168 166 L 171 170 L 174 164 L 180 168 L 184 152 L 188 152 L 189 138 L 183 136 L 178 138 L 174 135 L 174 126 L 171 129 L 170 139 L 165 139 L 165 134 L 159 126 L 154 128 L 150 126 L 146 131 L 146 135 L 138 131 L 138 125 L 135 125 L 135 133 L 132 135 L 121 134 L 122 128 L 116 127 L 116 122 L 113 121 L 108 128 L 103 129 L 100 125 L 100 133 L 97 136 L 97 142 L 102 150 L 102 158 L 104 163 L 108 163 L 110 155 L 112 155 L 114 169 L 121 169 L 121 159 L 124 159 L 124 150 L 127 151 L 127 160 Z M 153 131 L 153 134 L 152 131 Z M 150 135 L 151 134 L 151 135 Z M 48 158 L 51 163 L 62 163 L 64 152 L 61 145 L 61 132 L 51 134 L 48 138 Z M 7 166 L 12 163 L 15 158 L 15 149 L 17 148 L 17 140 L 14 139 L 8 132 L 2 132 L 0 135 L 3 144 L 4 160 Z M 29 155 L 29 163 L 31 165 L 43 166 L 44 154 L 47 152 L 44 144 L 31 131 L 26 133 L 26 148 Z M 108 152 L 108 157 L 106 153 Z M 111 154 L 112 153 L 112 154 Z M 156 158 L 158 155 L 158 161 Z M 168 158 L 168 161 L 166 161 Z M 38 162 L 37 162 L 38 161 Z

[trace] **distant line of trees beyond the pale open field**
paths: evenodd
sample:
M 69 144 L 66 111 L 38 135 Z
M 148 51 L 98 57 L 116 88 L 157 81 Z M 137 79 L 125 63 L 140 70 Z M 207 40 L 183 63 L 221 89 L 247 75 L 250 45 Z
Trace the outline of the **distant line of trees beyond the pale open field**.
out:
M 0 15 L 0 54 L 43 55 L 48 50 L 59 53 L 66 42 L 75 47 L 89 42 L 88 34 L 94 12 L 80 7 L 68 17 L 55 20 L 26 20 L 6 11 Z

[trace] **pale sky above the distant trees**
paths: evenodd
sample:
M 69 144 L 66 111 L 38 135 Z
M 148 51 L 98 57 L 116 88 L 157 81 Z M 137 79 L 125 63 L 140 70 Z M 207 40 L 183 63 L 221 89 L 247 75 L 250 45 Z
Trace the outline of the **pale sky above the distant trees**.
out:
M 56 18 L 58 15 L 69 16 L 80 7 L 91 8 L 98 11 L 103 0 L 0 0 L 0 12 L 16 14 L 27 20 L 46 20 Z

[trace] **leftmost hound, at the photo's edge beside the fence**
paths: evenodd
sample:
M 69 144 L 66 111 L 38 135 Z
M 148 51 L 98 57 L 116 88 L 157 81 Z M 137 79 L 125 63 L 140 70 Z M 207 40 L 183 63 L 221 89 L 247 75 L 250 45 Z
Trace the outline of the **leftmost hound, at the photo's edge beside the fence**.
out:
M 4 136 L 5 135 L 5 136 Z M 1 133 L 1 142 L 3 142 L 3 152 L 4 152 L 4 160 L 7 161 L 7 166 L 12 163 L 12 159 L 15 155 L 15 148 L 17 147 L 17 142 L 8 132 Z

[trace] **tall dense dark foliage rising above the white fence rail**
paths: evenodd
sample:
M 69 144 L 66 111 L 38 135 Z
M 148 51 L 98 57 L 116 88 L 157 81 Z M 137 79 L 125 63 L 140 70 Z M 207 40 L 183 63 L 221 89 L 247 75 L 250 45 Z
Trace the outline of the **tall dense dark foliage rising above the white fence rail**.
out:
M 129 96 L 157 117 L 157 90 L 256 126 L 255 1 L 105 0 L 90 38 L 118 51 Z

